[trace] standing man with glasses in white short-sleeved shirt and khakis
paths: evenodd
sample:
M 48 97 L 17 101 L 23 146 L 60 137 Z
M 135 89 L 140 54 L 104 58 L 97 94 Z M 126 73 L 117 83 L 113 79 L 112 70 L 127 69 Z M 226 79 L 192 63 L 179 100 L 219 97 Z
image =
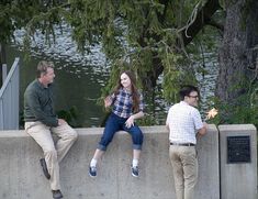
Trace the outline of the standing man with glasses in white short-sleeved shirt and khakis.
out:
M 169 157 L 173 168 L 177 199 L 192 199 L 198 179 L 197 135 L 206 133 L 206 123 L 198 111 L 199 90 L 184 86 L 180 91 L 180 102 L 168 112 L 166 126 L 169 130 Z

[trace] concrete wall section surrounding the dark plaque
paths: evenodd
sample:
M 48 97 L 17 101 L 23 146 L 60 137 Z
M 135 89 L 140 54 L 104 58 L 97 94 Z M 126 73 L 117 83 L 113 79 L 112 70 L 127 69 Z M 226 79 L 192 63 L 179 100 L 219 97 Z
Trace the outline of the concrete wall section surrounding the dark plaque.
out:
M 257 199 L 257 131 L 253 124 L 218 125 L 221 199 Z M 250 163 L 227 163 L 227 137 L 250 137 Z

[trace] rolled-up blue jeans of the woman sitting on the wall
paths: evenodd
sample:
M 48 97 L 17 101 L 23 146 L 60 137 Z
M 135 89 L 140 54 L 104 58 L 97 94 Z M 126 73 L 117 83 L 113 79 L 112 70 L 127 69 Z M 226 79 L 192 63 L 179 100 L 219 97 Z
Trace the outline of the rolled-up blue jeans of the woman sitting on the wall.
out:
M 117 117 L 114 113 L 111 113 L 104 128 L 103 135 L 99 142 L 98 148 L 101 151 L 105 151 L 110 142 L 113 140 L 115 132 L 123 130 L 128 132 L 132 135 L 133 140 L 133 148 L 142 150 L 144 135 L 141 129 L 134 124 L 134 126 L 126 128 L 125 121 L 127 119 Z

